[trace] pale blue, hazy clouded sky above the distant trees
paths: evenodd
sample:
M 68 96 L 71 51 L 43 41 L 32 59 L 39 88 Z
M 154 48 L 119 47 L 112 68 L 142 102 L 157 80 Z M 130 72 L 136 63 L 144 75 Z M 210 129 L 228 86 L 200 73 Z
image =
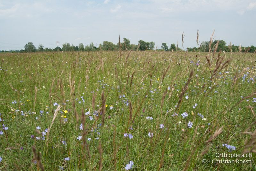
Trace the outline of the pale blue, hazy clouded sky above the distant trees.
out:
M 224 40 L 227 45 L 256 46 L 255 0 L 0 0 L 0 50 L 62 48 L 128 38 L 162 43 L 178 41 L 184 49 L 199 41 Z M 199 43 L 200 44 L 200 43 Z

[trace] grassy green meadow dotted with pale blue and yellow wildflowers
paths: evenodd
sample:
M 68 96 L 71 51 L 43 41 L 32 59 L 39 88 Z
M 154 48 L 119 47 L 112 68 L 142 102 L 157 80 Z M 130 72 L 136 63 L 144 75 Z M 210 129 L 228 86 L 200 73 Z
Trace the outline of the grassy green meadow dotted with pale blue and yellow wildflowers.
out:
M 2 53 L 0 170 L 255 170 L 255 61 L 215 51 Z

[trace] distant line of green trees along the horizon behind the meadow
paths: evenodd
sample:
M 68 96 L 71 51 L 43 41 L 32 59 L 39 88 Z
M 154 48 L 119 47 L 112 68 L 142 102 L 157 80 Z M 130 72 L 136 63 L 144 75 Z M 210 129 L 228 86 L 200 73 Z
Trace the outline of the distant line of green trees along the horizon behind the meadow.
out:
M 208 52 L 210 41 L 203 41 L 199 47 L 193 47 L 193 48 L 186 48 L 188 52 Z M 213 51 L 217 47 L 218 51 L 225 51 L 225 52 L 255 52 L 256 47 L 255 46 L 249 46 L 249 47 L 241 47 L 241 46 L 235 46 L 229 44 L 226 46 L 226 42 L 223 40 L 215 40 L 211 44 L 211 51 Z M 42 44 L 36 48 L 32 42 L 28 42 L 24 46 L 24 50 L 16 50 L 12 52 L 60 52 L 60 51 L 96 51 L 96 50 L 154 50 L 155 49 L 155 43 L 153 41 L 146 42 L 143 40 L 140 40 L 138 44 L 131 44 L 130 40 L 127 38 L 124 38 L 122 42 L 118 42 L 117 44 L 114 44 L 109 41 L 103 41 L 103 43 L 99 44 L 98 47 L 94 46 L 93 43 L 84 46 L 83 43 L 80 43 L 79 46 L 74 46 L 73 44 L 70 45 L 69 43 L 64 43 L 62 45 L 62 48 L 57 46 L 56 48 L 44 48 Z M 182 49 L 178 47 L 178 44 L 172 43 L 170 45 L 170 48 L 168 47 L 167 43 L 162 43 L 161 49 L 158 49 L 159 51 L 181 51 Z M 4 51 L 2 52 L 10 52 L 10 51 Z

